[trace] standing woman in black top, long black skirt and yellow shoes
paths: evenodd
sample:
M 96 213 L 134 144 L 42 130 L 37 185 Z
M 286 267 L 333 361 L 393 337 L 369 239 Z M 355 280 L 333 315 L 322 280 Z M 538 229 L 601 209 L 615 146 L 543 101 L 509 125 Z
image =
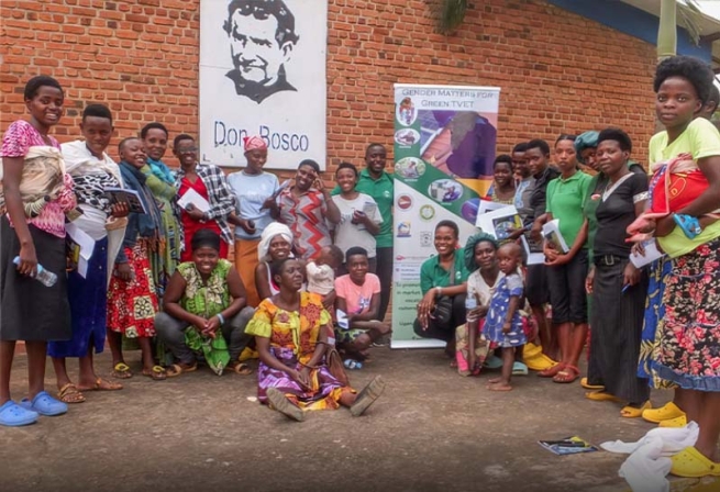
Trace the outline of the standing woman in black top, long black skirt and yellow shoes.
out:
M 586 396 L 628 402 L 621 416 L 639 417 L 650 396 L 647 380 L 635 374 L 647 276 L 630 262 L 625 230 L 644 211 L 647 177 L 628 167 L 632 143 L 625 132 L 603 130 L 597 142 L 597 164 L 607 179 L 597 190 L 598 230 L 590 246 L 595 255 L 586 289 L 594 301 L 590 365 L 605 389 Z

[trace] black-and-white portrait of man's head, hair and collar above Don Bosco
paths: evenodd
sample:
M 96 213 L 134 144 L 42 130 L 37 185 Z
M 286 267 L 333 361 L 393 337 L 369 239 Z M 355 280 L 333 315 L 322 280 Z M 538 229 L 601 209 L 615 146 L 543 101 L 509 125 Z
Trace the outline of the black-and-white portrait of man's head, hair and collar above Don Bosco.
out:
M 230 40 L 234 69 L 226 76 L 239 96 L 262 102 L 275 92 L 295 87 L 286 80 L 298 35 L 295 16 L 283 0 L 233 0 L 224 30 Z

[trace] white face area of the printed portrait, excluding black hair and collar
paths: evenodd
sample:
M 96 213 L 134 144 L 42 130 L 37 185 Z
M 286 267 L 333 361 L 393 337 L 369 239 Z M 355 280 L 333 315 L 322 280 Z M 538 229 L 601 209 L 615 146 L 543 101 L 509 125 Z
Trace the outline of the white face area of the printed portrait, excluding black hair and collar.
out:
M 246 80 L 275 83 L 283 64 L 290 59 L 292 43 L 275 40 L 277 19 L 255 19 L 235 11 L 230 21 L 230 52 L 233 65 Z

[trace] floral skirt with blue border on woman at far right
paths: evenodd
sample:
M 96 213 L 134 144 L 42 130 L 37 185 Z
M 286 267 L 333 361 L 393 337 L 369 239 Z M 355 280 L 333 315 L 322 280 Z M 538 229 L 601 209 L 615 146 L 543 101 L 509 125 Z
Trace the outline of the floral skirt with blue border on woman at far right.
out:
M 720 391 L 720 238 L 674 258 L 652 370 L 686 390 Z

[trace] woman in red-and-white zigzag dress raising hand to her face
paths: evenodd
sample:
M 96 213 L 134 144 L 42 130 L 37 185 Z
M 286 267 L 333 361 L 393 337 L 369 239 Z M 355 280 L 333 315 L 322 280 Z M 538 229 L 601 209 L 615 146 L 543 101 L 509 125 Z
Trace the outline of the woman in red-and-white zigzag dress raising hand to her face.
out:
M 320 179 L 320 165 L 306 159 L 298 166 L 295 186 L 284 190 L 274 216 L 290 227 L 295 249 L 301 259 L 314 259 L 323 246 L 330 246 L 328 221 L 340 222 L 340 210 Z

